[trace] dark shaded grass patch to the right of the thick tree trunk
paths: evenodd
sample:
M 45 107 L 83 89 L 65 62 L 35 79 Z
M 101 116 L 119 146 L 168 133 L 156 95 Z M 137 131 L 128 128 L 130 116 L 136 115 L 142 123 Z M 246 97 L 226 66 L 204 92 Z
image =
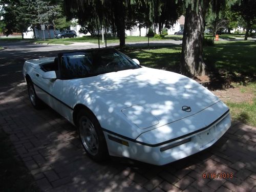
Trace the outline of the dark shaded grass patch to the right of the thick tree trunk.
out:
M 205 62 L 236 77 L 254 77 L 256 72 L 255 41 L 218 41 L 204 48 Z

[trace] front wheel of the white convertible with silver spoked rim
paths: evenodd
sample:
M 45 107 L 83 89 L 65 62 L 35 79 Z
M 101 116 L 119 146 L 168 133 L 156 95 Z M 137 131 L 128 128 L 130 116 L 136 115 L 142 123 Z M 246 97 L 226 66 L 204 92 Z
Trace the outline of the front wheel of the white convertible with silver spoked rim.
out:
M 97 162 L 108 159 L 105 137 L 94 114 L 89 110 L 79 111 L 77 126 L 79 138 L 87 155 Z

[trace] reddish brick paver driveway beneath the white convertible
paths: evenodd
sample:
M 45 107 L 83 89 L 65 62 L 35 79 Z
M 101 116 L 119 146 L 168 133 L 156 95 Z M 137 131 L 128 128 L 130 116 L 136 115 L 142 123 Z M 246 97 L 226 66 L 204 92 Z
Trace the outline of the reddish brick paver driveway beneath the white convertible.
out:
M 42 190 L 256 191 L 256 128 L 239 122 L 208 150 L 165 166 L 124 158 L 91 161 L 72 124 L 50 108 L 36 111 L 30 104 L 21 73 L 24 59 L 52 55 L 48 51 L 56 47 L 33 52 L 27 46 L 0 51 L 0 127 Z M 226 178 L 207 179 L 204 173 L 226 173 Z

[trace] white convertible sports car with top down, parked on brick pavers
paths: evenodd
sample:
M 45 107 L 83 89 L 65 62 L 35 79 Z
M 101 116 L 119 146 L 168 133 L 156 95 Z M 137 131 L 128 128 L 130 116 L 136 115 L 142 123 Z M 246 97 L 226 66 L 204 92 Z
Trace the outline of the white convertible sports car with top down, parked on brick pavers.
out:
M 164 165 L 211 146 L 231 125 L 228 107 L 196 81 L 115 49 L 27 60 L 23 75 L 33 106 L 47 103 L 76 125 L 96 161 Z

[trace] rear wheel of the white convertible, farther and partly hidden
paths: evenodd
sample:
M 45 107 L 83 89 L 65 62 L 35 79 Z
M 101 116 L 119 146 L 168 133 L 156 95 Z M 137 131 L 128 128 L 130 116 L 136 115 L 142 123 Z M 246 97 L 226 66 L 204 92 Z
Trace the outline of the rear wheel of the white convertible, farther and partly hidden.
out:
M 28 85 L 29 100 L 30 100 L 31 104 L 37 110 L 42 109 L 44 107 L 44 102 L 42 102 L 42 100 L 37 97 L 37 95 L 35 93 L 34 84 L 31 81 L 31 79 L 27 80 L 27 85 Z

